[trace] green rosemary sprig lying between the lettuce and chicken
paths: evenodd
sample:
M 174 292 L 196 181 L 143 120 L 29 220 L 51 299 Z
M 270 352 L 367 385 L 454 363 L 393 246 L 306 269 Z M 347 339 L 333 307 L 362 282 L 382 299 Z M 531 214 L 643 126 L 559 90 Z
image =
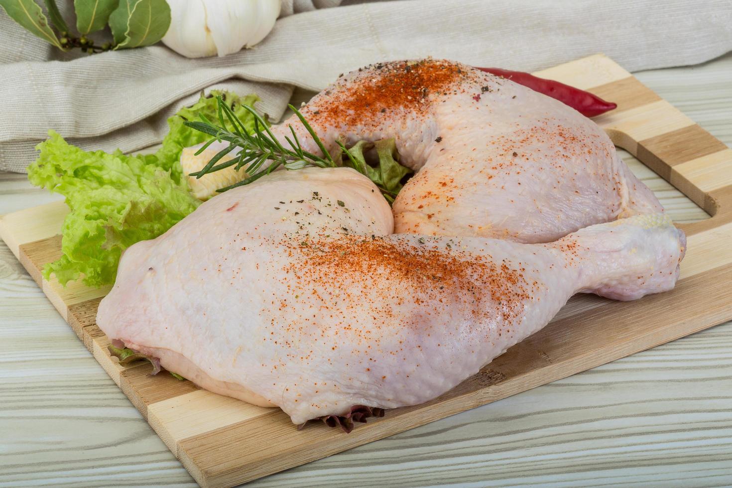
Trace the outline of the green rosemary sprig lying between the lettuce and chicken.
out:
M 248 105 L 242 105 L 244 109 L 248 110 L 254 116 L 254 132 L 247 132 L 244 124 L 242 124 L 242 121 L 239 120 L 234 111 L 231 110 L 225 102 L 223 102 L 220 96 L 216 98 L 219 124 L 214 124 L 214 122 L 206 119 L 205 116 L 201 116 L 201 121 L 186 121 L 184 124 L 187 125 L 187 127 L 212 136 L 212 138 L 206 142 L 201 149 L 196 151 L 196 156 L 205 151 L 212 143 L 214 143 L 214 141 L 228 142 L 228 146 L 217 152 L 217 154 L 212 157 L 211 160 L 201 168 L 201 170 L 195 173 L 190 173 L 190 176 L 195 176 L 198 179 L 204 175 L 213 173 L 214 171 L 230 168 L 234 165 L 236 165 L 235 169 L 237 171 L 244 168 L 244 171 L 247 173 L 247 177 L 242 179 L 242 181 L 238 181 L 225 188 L 217 189 L 217 192 L 225 192 L 232 188 L 250 184 L 253 181 L 260 179 L 262 176 L 272 173 L 272 171 L 276 170 L 280 166 L 283 166 L 286 170 L 299 170 L 307 168 L 308 166 L 315 166 L 317 168 L 338 168 L 347 166 L 348 168 L 354 168 L 359 173 L 362 173 L 364 176 L 367 176 L 374 181 L 374 179 L 369 175 L 365 163 L 361 162 L 359 158 L 354 156 L 354 154 L 351 154 L 351 152 L 346 149 L 346 146 L 340 141 L 338 141 L 338 146 L 340 146 L 341 151 L 343 151 L 343 154 L 346 155 L 347 159 L 344 160 L 342 157 L 332 157 L 321 138 L 319 138 L 313 130 L 313 127 L 310 127 L 310 124 L 307 123 L 307 120 L 302 116 L 302 113 L 294 108 L 294 106 L 288 105 L 297 118 L 300 119 L 303 127 L 305 127 L 307 132 L 310 134 L 310 137 L 313 138 L 318 149 L 322 151 L 322 157 L 302 149 L 300 141 L 298 140 L 292 126 L 290 126 L 292 139 L 285 136 L 286 146 L 289 146 L 289 148 L 286 147 L 285 144 L 280 142 L 280 140 L 278 140 L 272 133 L 267 122 L 256 112 L 256 110 Z M 227 121 L 229 126 L 232 128 L 231 130 L 227 128 Z M 236 156 L 234 156 L 234 158 L 219 163 L 224 156 L 237 149 L 238 152 L 236 152 Z M 269 162 L 269 165 L 265 165 L 266 162 Z M 384 195 L 384 198 L 386 198 L 389 203 L 394 201 L 394 198 L 396 197 L 395 192 L 387 189 L 378 181 L 374 181 L 374 184 L 376 184 L 376 187 L 378 187 L 381 194 Z

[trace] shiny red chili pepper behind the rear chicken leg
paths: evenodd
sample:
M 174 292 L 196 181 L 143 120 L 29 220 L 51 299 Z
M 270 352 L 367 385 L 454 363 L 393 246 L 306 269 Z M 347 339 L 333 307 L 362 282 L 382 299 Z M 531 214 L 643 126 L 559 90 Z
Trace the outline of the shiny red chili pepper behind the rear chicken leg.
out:
M 597 95 L 591 94 L 589 91 L 580 90 L 574 86 L 559 83 L 559 81 L 537 78 L 534 75 L 529 75 L 529 73 L 501 70 L 501 68 L 478 68 L 478 70 L 489 72 L 496 76 L 502 76 L 507 80 L 511 80 L 519 85 L 526 86 L 526 88 L 559 100 L 564 105 L 569 105 L 586 117 L 598 116 L 600 113 L 608 112 L 618 106 L 612 102 L 605 102 L 605 100 L 597 97 Z

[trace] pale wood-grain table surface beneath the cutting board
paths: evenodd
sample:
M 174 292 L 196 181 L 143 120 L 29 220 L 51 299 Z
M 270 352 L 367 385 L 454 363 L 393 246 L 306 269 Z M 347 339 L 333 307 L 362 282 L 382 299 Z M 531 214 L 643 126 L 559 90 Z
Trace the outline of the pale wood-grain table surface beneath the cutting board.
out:
M 732 55 L 638 78 L 732 146 Z M 625 159 L 674 219 L 706 216 Z M 0 173 L 0 214 L 57 198 Z M 0 487 L 195 486 L 4 244 L 0 350 Z M 631 483 L 732 485 L 732 323 L 253 486 Z

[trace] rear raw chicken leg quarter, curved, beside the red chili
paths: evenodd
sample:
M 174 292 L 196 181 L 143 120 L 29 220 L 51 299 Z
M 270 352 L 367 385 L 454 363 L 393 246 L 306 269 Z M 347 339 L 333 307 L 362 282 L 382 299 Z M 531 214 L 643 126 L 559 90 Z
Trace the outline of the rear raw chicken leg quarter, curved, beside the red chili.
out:
M 593 121 L 512 81 L 452 61 L 375 64 L 301 109 L 326 149 L 395 138 L 418 170 L 394 204 L 396 231 L 548 242 L 588 225 L 662 212 Z M 299 119 L 296 130 L 318 148 Z

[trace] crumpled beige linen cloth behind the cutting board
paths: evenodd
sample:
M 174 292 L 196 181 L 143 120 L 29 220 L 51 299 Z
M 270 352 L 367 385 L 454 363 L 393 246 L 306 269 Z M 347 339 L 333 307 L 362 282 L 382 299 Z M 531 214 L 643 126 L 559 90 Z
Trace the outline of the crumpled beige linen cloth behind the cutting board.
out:
M 447 58 L 531 71 L 605 53 L 627 70 L 698 64 L 732 50 L 732 1 L 285 0 L 255 48 L 186 59 L 163 45 L 59 53 L 0 14 L 0 169 L 23 171 L 48 129 L 84 149 L 135 151 L 202 89 L 261 97 L 279 118 L 294 86 L 392 59 Z M 336 8 L 336 4 L 343 3 Z

